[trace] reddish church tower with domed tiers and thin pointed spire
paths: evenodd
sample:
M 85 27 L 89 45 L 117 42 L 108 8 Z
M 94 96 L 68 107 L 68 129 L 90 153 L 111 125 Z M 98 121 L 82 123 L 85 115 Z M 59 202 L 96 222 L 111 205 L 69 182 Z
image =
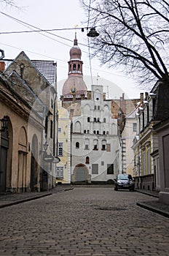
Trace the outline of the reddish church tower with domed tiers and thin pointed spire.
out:
M 81 60 L 82 51 L 80 50 L 75 33 L 74 46 L 71 48 L 70 60 L 68 61 L 68 79 L 63 84 L 63 101 L 81 99 L 87 93 L 87 86 L 83 80 Z

